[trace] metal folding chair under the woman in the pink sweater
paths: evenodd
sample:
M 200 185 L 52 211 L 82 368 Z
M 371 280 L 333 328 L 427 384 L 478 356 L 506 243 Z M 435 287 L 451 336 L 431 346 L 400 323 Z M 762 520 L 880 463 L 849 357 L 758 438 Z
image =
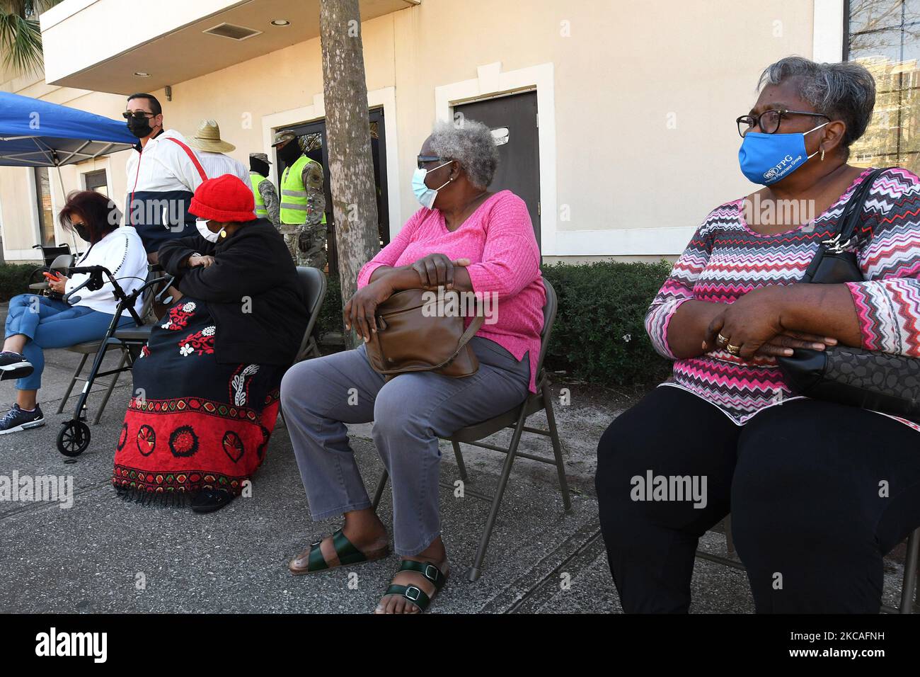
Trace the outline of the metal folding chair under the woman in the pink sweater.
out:
M 553 331 L 553 322 L 556 321 L 558 299 L 556 296 L 556 290 L 553 289 L 553 286 L 549 284 L 546 278 L 543 280 L 543 286 L 546 288 L 546 305 L 543 307 L 543 332 L 540 333 L 540 356 L 536 363 L 536 392 L 532 393 L 528 391 L 527 399 L 524 400 L 522 404 L 514 407 L 512 410 L 490 418 L 488 421 L 478 423 L 475 426 L 466 426 L 460 428 L 454 432 L 452 436 L 447 438 L 450 440 L 451 444 L 454 445 L 454 455 L 456 456 L 457 460 L 457 470 L 460 474 L 460 479 L 463 480 L 464 484 L 469 483 L 469 478 L 466 475 L 466 465 L 464 464 L 463 453 L 460 449 L 461 443 L 470 444 L 474 447 L 481 447 L 482 449 L 492 449 L 493 451 L 500 451 L 501 453 L 505 454 L 505 462 L 501 468 L 499 484 L 493 496 L 486 496 L 475 491 L 470 491 L 466 488 L 464 489 L 464 493 L 466 495 L 473 496 L 474 498 L 478 498 L 480 500 L 491 503 L 489 518 L 486 519 L 485 529 L 482 531 L 482 535 L 479 538 L 479 547 L 477 549 L 476 558 L 473 560 L 473 566 L 470 567 L 467 573 L 467 578 L 470 581 L 477 580 L 477 578 L 479 578 L 482 573 L 482 562 L 486 558 L 486 550 L 489 547 L 489 539 L 492 536 L 492 529 L 495 527 L 495 519 L 499 515 L 501 498 L 504 496 L 505 487 L 508 484 L 508 478 L 512 472 L 512 464 L 514 462 L 515 456 L 522 456 L 523 458 L 530 459 L 531 461 L 540 461 L 543 463 L 548 463 L 549 465 L 555 465 L 559 477 L 559 489 L 562 493 L 562 505 L 566 512 L 571 510 L 571 500 L 569 499 L 569 484 L 566 481 L 565 465 L 562 461 L 562 445 L 559 442 L 559 434 L 556 428 L 556 415 L 553 413 L 553 394 L 549 390 L 549 378 L 546 375 L 546 370 L 543 368 L 543 359 L 546 356 L 546 347 L 549 345 L 549 335 Z M 549 426 L 548 430 L 524 425 L 528 416 L 536 414 L 541 410 L 546 410 L 546 423 Z M 511 443 L 507 448 L 479 441 L 483 438 L 488 438 L 489 435 L 493 435 L 505 428 L 511 428 L 513 430 Z M 533 454 L 524 453 L 523 451 L 518 451 L 518 445 L 521 442 L 521 435 L 524 432 L 535 433 L 536 435 L 545 435 L 548 437 L 553 445 L 554 458 L 547 459 L 542 456 L 535 456 Z M 387 478 L 388 474 L 384 470 L 383 475 L 380 477 L 380 482 L 377 484 L 377 489 L 374 492 L 374 509 L 376 509 L 380 504 L 380 499 L 384 495 Z M 451 489 L 454 488 L 452 484 L 442 483 L 442 486 Z

